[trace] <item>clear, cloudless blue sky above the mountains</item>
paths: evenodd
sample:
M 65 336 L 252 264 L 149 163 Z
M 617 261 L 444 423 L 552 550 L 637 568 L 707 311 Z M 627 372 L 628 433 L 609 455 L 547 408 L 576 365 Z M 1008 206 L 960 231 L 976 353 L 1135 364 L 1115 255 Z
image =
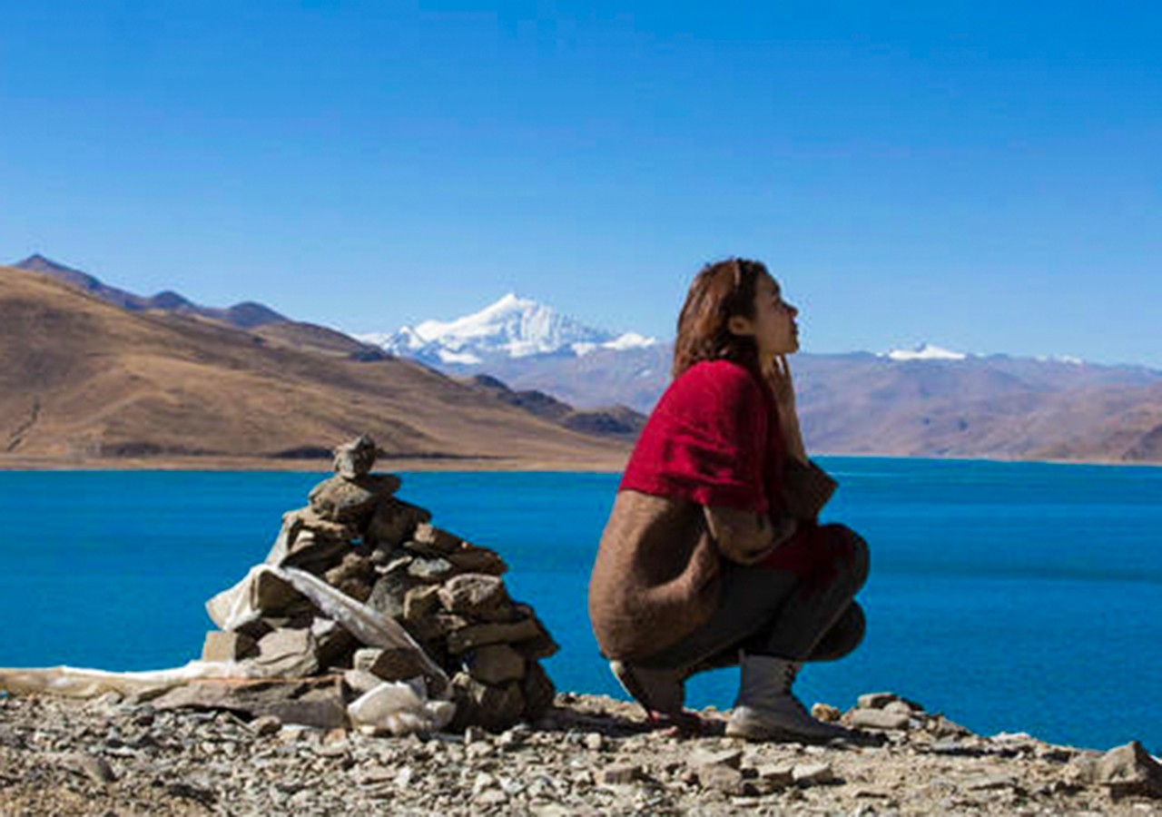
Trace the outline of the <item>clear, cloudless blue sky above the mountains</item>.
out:
M 669 338 L 1162 367 L 1162 5 L 0 0 L 0 259 L 346 331 L 517 294 Z

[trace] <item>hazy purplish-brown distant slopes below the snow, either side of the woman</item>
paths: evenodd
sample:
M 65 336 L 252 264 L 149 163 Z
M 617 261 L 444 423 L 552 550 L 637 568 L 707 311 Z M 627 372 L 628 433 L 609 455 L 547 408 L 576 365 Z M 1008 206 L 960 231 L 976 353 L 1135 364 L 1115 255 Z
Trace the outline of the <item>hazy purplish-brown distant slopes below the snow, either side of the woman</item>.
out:
M 670 344 L 489 363 L 516 392 L 652 410 Z M 808 446 L 890 457 L 1162 463 L 1162 372 L 1007 356 L 906 360 L 853 352 L 791 359 Z

